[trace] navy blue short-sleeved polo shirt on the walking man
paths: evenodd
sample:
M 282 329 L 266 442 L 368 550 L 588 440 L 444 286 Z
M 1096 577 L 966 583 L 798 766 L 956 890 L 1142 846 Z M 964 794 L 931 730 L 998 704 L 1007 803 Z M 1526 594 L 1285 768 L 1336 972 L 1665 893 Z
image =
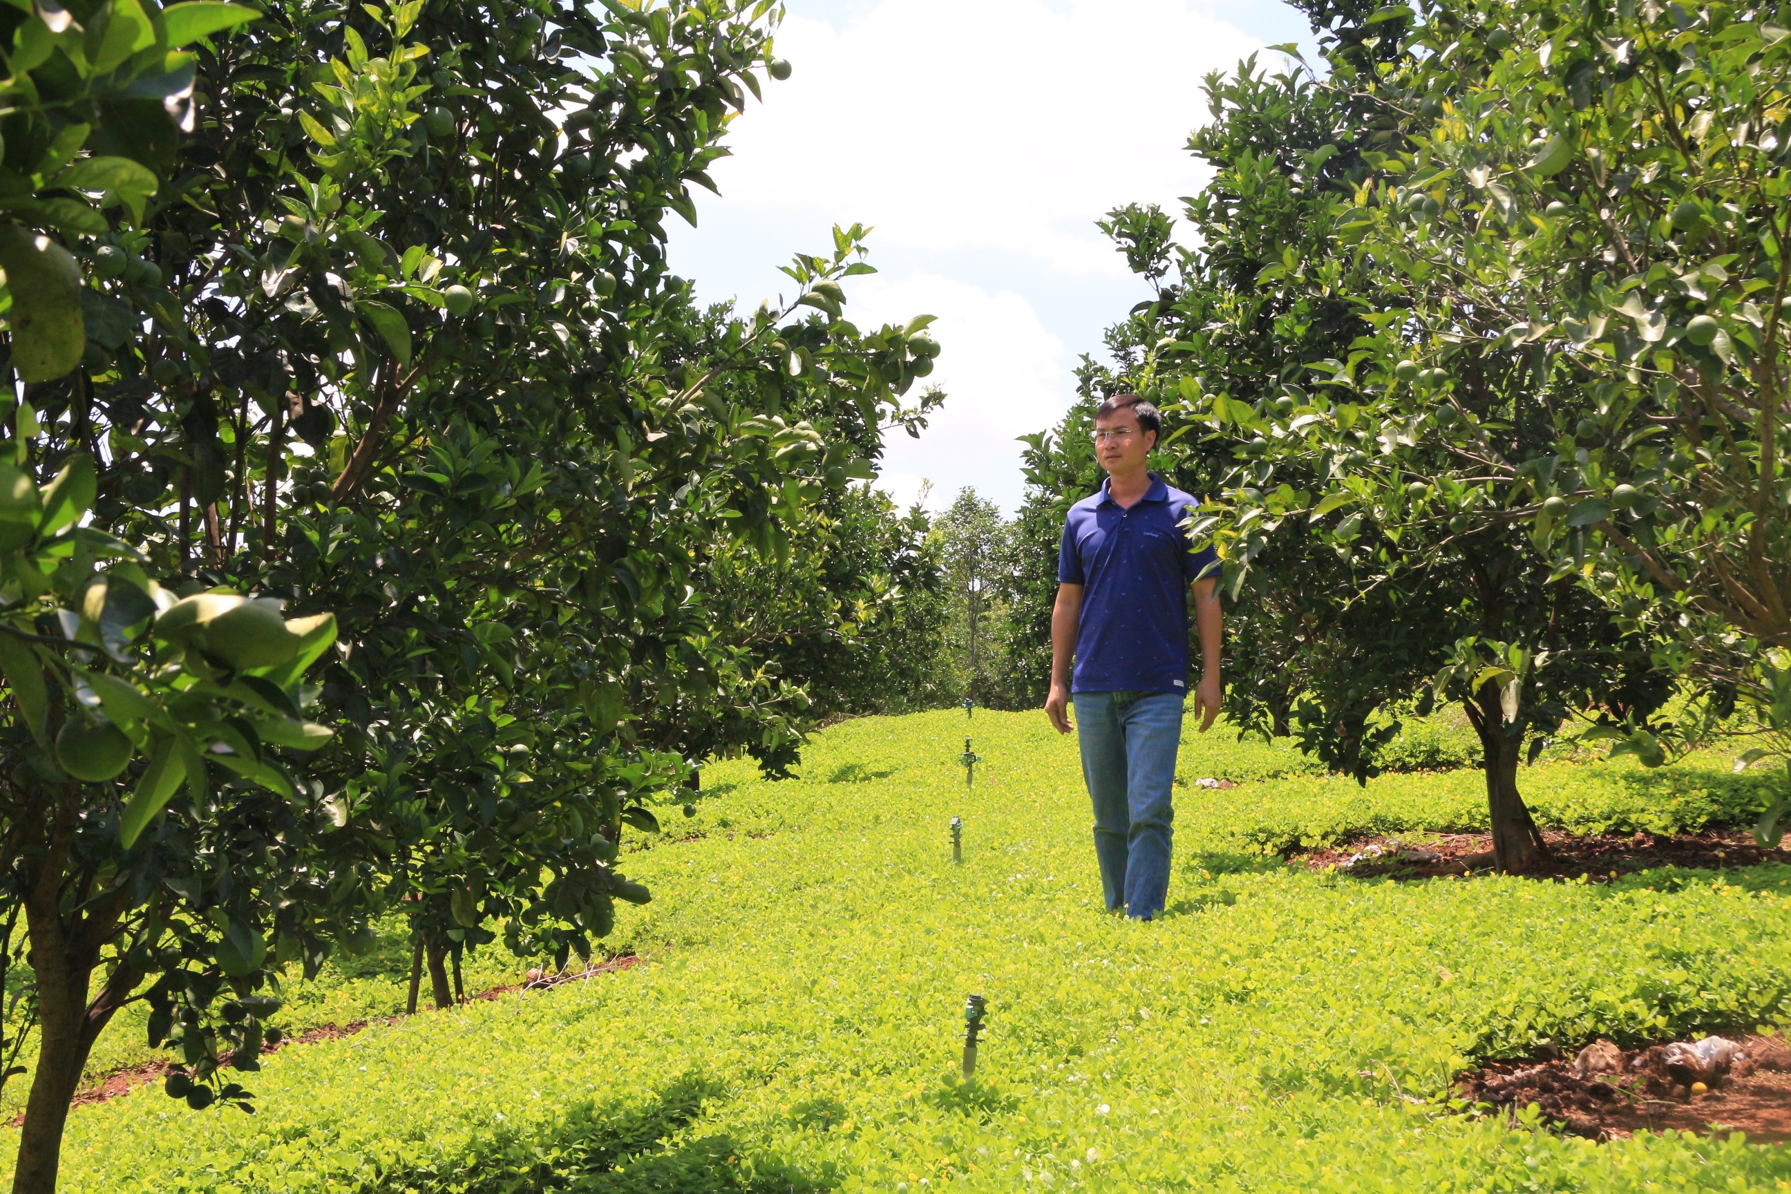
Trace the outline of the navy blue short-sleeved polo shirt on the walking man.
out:
M 1057 580 L 1082 585 L 1071 693 L 1187 691 L 1187 587 L 1218 560 L 1180 526 L 1198 505 L 1152 473 L 1130 510 L 1107 482 L 1069 507 Z

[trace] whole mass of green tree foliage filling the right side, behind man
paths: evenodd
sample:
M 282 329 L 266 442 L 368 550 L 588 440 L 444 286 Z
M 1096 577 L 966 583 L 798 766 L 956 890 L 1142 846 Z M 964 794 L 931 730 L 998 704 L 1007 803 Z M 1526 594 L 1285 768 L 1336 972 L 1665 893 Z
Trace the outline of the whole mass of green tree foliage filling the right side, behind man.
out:
M 1150 208 L 1103 224 L 1157 297 L 1114 329 L 1118 367 L 1085 371 L 1085 387 L 1137 388 L 1171 408 L 1164 469 L 1209 498 L 1198 532 L 1220 546 L 1230 591 L 1247 594 L 1232 671 L 1245 716 L 1365 777 L 1393 732 L 1388 712 L 1460 702 L 1483 741 L 1501 865 L 1521 870 L 1542 843 L 1519 763 L 1576 721 L 1658 761 L 1646 727 L 1692 675 L 1716 696 L 1705 725 L 1737 689 L 1762 732 L 1782 723 L 1782 661 L 1757 650 L 1773 643 L 1766 621 L 1739 614 L 1780 584 L 1777 299 L 1755 337 L 1764 356 L 1737 356 L 1705 313 L 1696 337 L 1709 353 L 1655 360 L 1669 320 L 1630 294 L 1653 276 L 1680 294 L 1691 267 L 1667 258 L 1723 247 L 1694 217 L 1716 202 L 1705 192 L 1725 186 L 1739 195 L 1725 211 L 1757 213 L 1727 233 L 1759 242 L 1735 303 L 1777 294 L 1782 204 L 1762 197 L 1778 152 L 1766 132 L 1784 75 L 1778 27 L 1753 7 L 1698 20 L 1546 0 L 1302 7 L 1324 45 L 1322 79 L 1247 63 L 1209 81 L 1213 122 L 1191 149 L 1216 174 L 1187 209 L 1193 247 L 1177 247 Z M 1644 54 L 1650 30 L 1666 38 L 1667 25 L 1675 45 Z M 1725 48 L 1700 50 L 1698 38 Z M 1682 98 L 1662 98 L 1641 68 L 1650 55 L 1655 70 L 1698 63 L 1723 82 L 1678 70 Z M 1718 104 L 1730 104 L 1727 116 Z M 1700 129 L 1753 129 L 1766 158 L 1723 158 L 1707 177 L 1687 168 L 1684 145 L 1676 166 L 1657 159 L 1667 150 L 1648 131 L 1700 107 L 1710 109 Z M 1619 149 L 1646 161 L 1608 172 Z M 1530 186 L 1547 192 L 1533 206 L 1519 200 Z M 1646 188 L 1696 195 L 1685 206 Z M 1610 224 L 1615 199 L 1664 249 Z M 1569 202 L 1581 202 L 1581 224 Z M 1628 261 L 1635 272 L 1619 285 L 1621 245 L 1653 256 L 1648 269 Z M 1739 261 L 1707 260 L 1725 279 Z M 1592 295 L 1599 311 L 1637 310 L 1605 319 Z M 1648 328 L 1630 337 L 1635 319 Z M 1675 394 L 1696 410 L 1703 394 L 1728 401 L 1718 422 L 1744 414 L 1753 424 L 1725 431 L 1691 406 L 1648 406 L 1637 396 L 1667 390 L 1639 363 L 1680 369 Z M 1710 388 L 1710 369 L 1725 367 L 1753 369 L 1759 380 L 1735 385 L 1770 392 L 1735 405 Z M 1675 449 L 1685 462 L 1718 464 L 1675 464 L 1657 446 L 1673 435 L 1685 437 Z M 1046 458 L 1051 448 L 1035 448 L 1033 480 L 1060 501 L 1048 483 L 1066 465 Z M 1657 510 L 1667 490 L 1671 517 Z M 1746 593 L 1725 575 L 1750 576 Z

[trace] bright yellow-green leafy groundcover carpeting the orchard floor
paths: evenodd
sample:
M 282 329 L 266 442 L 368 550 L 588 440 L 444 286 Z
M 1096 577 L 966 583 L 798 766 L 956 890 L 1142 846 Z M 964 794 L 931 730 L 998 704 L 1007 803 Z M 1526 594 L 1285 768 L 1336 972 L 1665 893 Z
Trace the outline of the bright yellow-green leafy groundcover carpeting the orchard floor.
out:
M 802 777 L 716 764 L 636 852 L 648 965 L 296 1047 L 260 1113 L 79 1110 L 82 1194 L 1791 1190 L 1784 1146 L 1612 1144 L 1449 1108 L 1476 1060 L 1791 1020 L 1791 866 L 1363 881 L 1277 850 L 1470 829 L 1472 772 L 1277 773 L 1189 738 L 1171 911 L 1100 909 L 1075 741 L 1041 714 L 863 720 Z M 1205 789 L 1198 779 L 1236 779 Z M 1546 825 L 1744 823 L 1761 780 L 1544 763 Z M 947 822 L 962 816 L 964 863 Z M 973 1083 L 964 999 L 989 999 Z

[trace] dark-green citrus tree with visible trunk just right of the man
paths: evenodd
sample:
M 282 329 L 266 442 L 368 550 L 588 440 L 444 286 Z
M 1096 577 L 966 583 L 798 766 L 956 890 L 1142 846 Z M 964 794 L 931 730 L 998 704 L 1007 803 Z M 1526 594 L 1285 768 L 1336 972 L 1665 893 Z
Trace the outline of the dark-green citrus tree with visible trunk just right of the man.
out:
M 1397 729 L 1388 714 L 1460 702 L 1483 746 L 1497 865 L 1524 870 L 1544 843 L 1521 763 L 1581 714 L 1646 716 L 1669 678 L 1537 551 L 1487 469 L 1449 448 L 1495 433 L 1513 462 L 1553 451 L 1524 417 L 1522 353 L 1401 356 L 1368 376 L 1367 345 L 1397 342 L 1404 283 L 1359 252 L 1352 222 L 1404 177 L 1429 97 L 1393 104 L 1377 90 L 1413 68 L 1410 9 L 1306 7 L 1325 81 L 1250 64 L 1209 81 L 1214 120 L 1193 149 L 1216 174 L 1187 213 L 1198 249 L 1116 329 L 1128 349 L 1118 381 L 1168 408 L 1164 444 L 1207 498 L 1196 532 L 1220 548 L 1229 593 L 1239 607 L 1245 584 L 1264 598 L 1239 616 L 1245 714 L 1288 723 L 1365 777 Z M 1424 215 L 1424 195 L 1413 206 L 1401 190 L 1401 209 Z M 1168 276 L 1148 217 L 1110 224 L 1135 269 L 1164 261 L 1146 279 Z M 1406 394 L 1406 422 L 1377 417 L 1365 388 Z M 1426 433 L 1444 422 L 1447 435 Z

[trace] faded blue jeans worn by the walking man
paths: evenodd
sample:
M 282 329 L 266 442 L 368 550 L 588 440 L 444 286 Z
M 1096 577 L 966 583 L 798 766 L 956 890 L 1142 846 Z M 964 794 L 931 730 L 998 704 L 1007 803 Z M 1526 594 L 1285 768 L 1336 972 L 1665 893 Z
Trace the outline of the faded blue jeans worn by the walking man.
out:
M 1175 750 L 1180 693 L 1076 693 L 1082 779 L 1094 802 L 1094 857 L 1107 909 L 1134 920 L 1162 915 L 1170 895 Z

